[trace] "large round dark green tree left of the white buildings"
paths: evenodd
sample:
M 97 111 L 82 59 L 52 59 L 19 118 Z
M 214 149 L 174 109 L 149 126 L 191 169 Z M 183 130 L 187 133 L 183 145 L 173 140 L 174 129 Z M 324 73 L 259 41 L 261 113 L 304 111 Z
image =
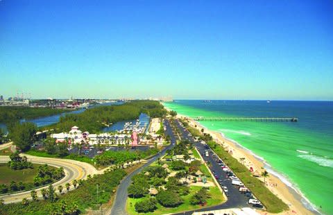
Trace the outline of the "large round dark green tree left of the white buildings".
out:
M 36 130 L 37 127 L 34 123 L 17 123 L 15 126 L 10 128 L 10 139 L 12 139 L 15 146 L 22 151 L 29 150 L 35 140 Z

